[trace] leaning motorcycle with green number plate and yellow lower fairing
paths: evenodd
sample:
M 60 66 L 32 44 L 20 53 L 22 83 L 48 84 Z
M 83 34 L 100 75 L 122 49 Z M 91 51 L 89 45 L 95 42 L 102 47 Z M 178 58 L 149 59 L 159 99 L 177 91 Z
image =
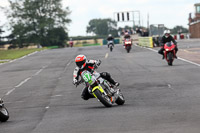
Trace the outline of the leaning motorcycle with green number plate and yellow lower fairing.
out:
M 97 67 L 95 66 L 95 68 Z M 100 73 L 85 70 L 81 73 L 81 78 L 82 80 L 78 84 L 85 83 L 88 92 L 94 95 L 105 107 L 112 107 L 114 103 L 118 105 L 125 103 L 120 89 L 114 89 L 107 80 L 100 77 Z

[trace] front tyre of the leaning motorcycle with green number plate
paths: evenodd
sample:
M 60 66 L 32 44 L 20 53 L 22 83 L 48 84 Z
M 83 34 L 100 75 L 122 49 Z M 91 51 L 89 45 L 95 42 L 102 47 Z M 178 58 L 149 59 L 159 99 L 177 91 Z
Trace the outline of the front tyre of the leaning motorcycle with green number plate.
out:
M 102 94 L 98 89 L 96 89 L 93 93 L 105 107 L 112 107 L 111 99 L 108 96 Z

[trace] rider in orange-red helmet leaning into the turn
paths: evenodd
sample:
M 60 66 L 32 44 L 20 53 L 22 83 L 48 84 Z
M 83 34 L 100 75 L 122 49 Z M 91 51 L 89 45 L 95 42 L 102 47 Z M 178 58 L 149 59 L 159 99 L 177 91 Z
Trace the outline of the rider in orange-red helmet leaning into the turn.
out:
M 74 69 L 74 73 L 73 73 L 73 84 L 74 85 L 78 85 L 79 76 L 81 75 L 81 73 L 84 70 L 91 72 L 92 70 L 94 70 L 95 67 L 97 67 L 101 64 L 101 60 L 87 60 L 85 55 L 78 55 L 75 58 L 75 62 L 76 62 L 77 67 Z M 102 72 L 102 73 L 100 73 L 100 76 L 102 78 L 108 80 L 112 85 L 119 86 L 119 83 L 114 81 L 111 78 L 111 75 L 108 72 Z M 88 100 L 89 98 L 93 98 L 93 95 L 91 95 L 88 92 L 87 86 L 83 89 L 81 97 L 84 100 Z

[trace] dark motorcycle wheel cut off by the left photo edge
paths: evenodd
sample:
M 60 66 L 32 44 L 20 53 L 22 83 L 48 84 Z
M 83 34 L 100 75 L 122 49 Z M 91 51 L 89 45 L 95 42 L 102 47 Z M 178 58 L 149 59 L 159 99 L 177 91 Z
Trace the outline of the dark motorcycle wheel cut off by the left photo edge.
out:
M 0 98 L 0 121 L 6 122 L 9 119 L 9 113 L 4 106 L 3 100 Z

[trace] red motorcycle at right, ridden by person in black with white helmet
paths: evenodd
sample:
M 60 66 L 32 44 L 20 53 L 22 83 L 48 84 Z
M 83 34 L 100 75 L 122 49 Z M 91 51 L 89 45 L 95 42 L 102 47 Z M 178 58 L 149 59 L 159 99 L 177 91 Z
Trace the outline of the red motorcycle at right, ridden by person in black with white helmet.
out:
M 176 45 L 171 42 L 167 42 L 164 45 L 164 57 L 166 61 L 168 62 L 169 66 L 172 66 L 172 63 L 176 57 L 176 52 L 175 52 Z

